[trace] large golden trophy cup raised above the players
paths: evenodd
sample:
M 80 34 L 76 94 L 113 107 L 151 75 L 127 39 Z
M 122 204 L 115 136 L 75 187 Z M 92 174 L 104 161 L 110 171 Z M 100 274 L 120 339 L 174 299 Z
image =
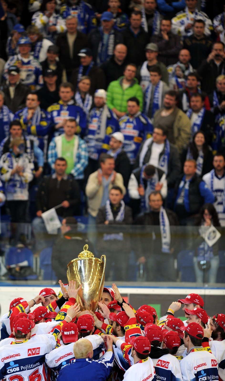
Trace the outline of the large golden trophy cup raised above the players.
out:
M 104 261 L 103 261 L 104 259 Z M 106 256 L 101 259 L 95 258 L 94 254 L 88 251 L 88 245 L 84 245 L 78 258 L 67 264 L 67 279 L 75 280 L 77 287 L 82 288 L 77 295 L 77 303 L 80 303 L 80 311 L 96 311 L 100 301 L 105 279 Z

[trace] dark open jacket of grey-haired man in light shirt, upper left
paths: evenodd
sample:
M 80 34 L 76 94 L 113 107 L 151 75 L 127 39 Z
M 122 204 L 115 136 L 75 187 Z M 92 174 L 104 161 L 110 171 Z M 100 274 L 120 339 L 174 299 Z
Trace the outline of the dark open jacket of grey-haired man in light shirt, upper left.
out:
M 71 73 L 74 67 L 80 65 L 79 56 L 77 55 L 81 49 L 87 48 L 87 36 L 77 31 L 77 37 L 74 41 L 73 58 L 70 58 L 69 44 L 67 42 L 67 33 L 63 33 L 57 37 L 56 45 L 59 47 L 59 62 L 63 65 L 67 72 Z

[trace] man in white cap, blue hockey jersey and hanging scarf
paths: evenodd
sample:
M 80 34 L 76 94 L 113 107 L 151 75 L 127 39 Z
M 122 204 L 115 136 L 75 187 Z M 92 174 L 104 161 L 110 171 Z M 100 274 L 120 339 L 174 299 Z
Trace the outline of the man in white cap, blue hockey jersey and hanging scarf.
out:
M 88 146 L 88 175 L 98 170 L 98 159 L 102 152 L 110 148 L 111 134 L 119 131 L 116 115 L 106 105 L 106 91 L 98 89 L 94 94 L 94 105 L 91 110 L 85 140 Z

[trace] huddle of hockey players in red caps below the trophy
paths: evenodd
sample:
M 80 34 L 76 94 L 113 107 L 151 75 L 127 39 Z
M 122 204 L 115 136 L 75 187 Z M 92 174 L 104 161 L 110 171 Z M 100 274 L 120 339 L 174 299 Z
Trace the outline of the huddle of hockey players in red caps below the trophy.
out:
M 125 303 L 115 283 L 96 312 L 81 312 L 80 287 L 59 284 L 59 296 L 44 288 L 29 302 L 16 298 L 1 317 L 0 379 L 225 380 L 225 315 L 209 317 L 198 294 L 158 318 L 150 305 Z M 185 321 L 174 317 L 182 305 Z

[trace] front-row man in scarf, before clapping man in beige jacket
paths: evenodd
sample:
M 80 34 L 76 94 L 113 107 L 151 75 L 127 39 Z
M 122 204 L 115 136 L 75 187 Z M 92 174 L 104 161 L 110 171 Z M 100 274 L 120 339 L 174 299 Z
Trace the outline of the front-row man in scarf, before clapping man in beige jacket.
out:
M 106 280 L 109 280 L 112 262 L 115 274 L 113 279 L 127 280 L 128 259 L 131 250 L 130 235 L 127 227 L 132 224 L 132 210 L 123 202 L 122 189 L 112 186 L 109 191 L 109 200 L 101 207 L 96 217 L 96 225 L 101 235 L 97 241 L 97 250 L 106 254 Z M 122 260 L 116 260 L 116 255 L 122 253 Z

